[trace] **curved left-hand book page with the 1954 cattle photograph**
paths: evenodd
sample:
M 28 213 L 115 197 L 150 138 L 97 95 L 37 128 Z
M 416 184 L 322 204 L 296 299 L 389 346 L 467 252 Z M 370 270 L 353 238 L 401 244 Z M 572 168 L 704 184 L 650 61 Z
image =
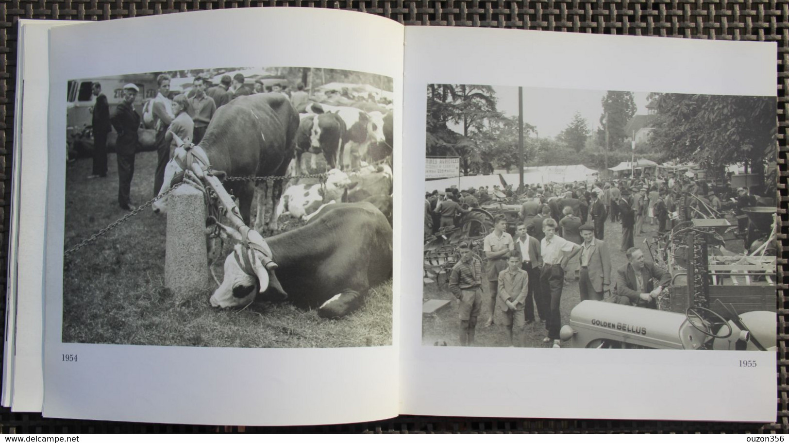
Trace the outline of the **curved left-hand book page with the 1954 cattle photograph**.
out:
M 44 415 L 398 414 L 403 29 L 267 8 L 50 32 Z

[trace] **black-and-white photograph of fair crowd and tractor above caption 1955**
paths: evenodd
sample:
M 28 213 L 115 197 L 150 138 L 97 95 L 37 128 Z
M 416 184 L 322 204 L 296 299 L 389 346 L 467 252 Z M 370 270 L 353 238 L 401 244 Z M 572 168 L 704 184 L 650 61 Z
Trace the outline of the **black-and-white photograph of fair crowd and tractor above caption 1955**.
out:
M 775 97 L 428 84 L 426 129 L 423 346 L 776 350 Z

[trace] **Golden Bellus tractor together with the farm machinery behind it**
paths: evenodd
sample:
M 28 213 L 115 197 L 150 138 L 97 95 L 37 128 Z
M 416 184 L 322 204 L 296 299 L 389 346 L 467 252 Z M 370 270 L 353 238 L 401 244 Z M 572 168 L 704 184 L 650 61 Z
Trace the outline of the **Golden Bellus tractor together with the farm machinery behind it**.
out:
M 744 208 L 747 231 L 724 218 L 680 221 L 647 242 L 656 265 L 671 272 L 657 309 L 586 300 L 560 336 L 570 347 L 776 349 L 774 207 Z M 752 252 L 733 253 L 739 238 Z

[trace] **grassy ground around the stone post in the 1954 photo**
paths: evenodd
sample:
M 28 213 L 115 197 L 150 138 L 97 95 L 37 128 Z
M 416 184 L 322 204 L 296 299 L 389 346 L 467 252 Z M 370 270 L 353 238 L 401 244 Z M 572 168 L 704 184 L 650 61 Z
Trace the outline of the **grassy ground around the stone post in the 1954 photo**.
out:
M 107 178 L 88 180 L 90 159 L 66 173 L 65 248 L 128 212 L 118 207 L 118 173 L 110 155 Z M 153 197 L 156 152 L 136 156 L 132 201 Z M 254 211 L 253 211 L 254 213 Z M 295 223 L 286 223 L 294 226 Z M 62 341 L 206 347 L 359 347 L 391 344 L 391 280 L 373 288 L 365 306 L 339 320 L 314 310 L 255 302 L 217 310 L 205 291 L 178 298 L 164 287 L 166 217 L 150 209 L 65 260 Z M 224 256 L 222 256 L 224 257 Z M 222 260 L 223 262 L 223 260 Z M 215 265 L 222 278 L 222 266 Z

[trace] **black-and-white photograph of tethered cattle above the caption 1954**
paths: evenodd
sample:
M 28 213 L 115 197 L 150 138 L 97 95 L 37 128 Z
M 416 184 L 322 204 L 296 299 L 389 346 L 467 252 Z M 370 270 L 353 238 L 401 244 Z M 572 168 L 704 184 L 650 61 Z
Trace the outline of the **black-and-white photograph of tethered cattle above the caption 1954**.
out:
M 69 81 L 62 342 L 391 345 L 393 90 L 279 66 Z

